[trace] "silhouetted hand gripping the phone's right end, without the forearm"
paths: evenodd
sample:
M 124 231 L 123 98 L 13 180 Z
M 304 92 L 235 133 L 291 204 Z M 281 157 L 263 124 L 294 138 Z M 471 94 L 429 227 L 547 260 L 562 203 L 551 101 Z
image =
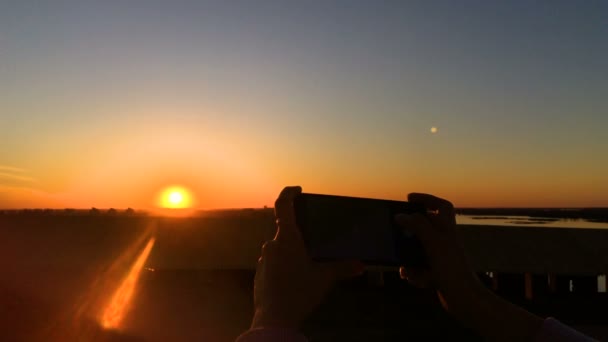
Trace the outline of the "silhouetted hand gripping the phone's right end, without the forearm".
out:
M 452 305 L 483 290 L 456 232 L 454 206 L 447 200 L 419 193 L 409 194 L 408 201 L 424 205 L 428 213 L 400 214 L 396 220 L 420 239 L 429 268 L 401 267 L 399 273 L 416 287 L 436 289 L 443 306 L 451 311 Z

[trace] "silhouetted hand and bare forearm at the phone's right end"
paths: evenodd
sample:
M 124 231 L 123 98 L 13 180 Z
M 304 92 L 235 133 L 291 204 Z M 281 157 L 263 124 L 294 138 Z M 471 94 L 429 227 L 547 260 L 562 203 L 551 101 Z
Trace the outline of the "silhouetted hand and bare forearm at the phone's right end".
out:
M 424 205 L 426 215 L 398 215 L 404 229 L 414 233 L 425 248 L 428 269 L 405 269 L 402 278 L 418 287 L 431 287 L 443 307 L 465 326 L 489 341 L 531 341 L 543 320 L 487 290 L 467 261 L 456 232 L 452 203 L 426 194 L 409 194 Z

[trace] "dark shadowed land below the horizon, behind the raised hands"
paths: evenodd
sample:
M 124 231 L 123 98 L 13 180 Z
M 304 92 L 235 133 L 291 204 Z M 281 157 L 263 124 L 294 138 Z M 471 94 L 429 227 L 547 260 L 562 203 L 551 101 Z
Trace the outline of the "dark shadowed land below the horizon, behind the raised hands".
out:
M 0 215 L 1 339 L 231 341 L 249 325 L 253 267 L 263 241 L 274 235 L 273 221 L 270 210 L 197 218 L 73 212 Z M 484 234 L 481 238 L 492 236 L 487 230 Z M 100 323 L 108 302 L 152 237 L 155 245 L 147 269 L 142 270 L 120 329 L 103 329 Z M 370 280 L 372 273 L 336 288 L 306 322 L 311 340 L 476 339 L 440 309 L 432 293 L 411 288 L 395 272 L 384 273 L 383 285 Z M 535 283 L 535 295 L 528 299 L 523 277 L 500 274 L 496 291 L 543 316 L 608 338 L 608 298 L 592 291 L 589 277 L 579 277 L 574 292 L 549 291 L 545 277 L 544 285 L 542 279 Z M 486 280 L 488 286 L 495 285 Z

